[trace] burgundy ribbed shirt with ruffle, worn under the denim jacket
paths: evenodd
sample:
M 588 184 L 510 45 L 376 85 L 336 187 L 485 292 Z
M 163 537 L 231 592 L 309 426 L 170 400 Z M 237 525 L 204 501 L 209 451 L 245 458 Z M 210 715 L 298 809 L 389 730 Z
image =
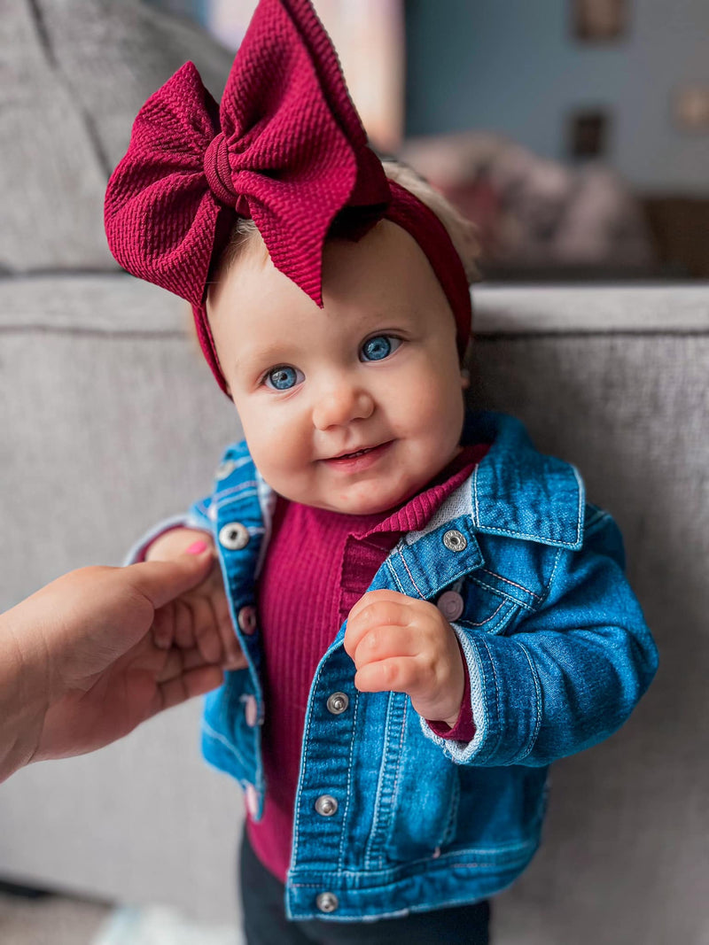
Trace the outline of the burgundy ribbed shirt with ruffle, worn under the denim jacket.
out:
M 423 528 L 487 450 L 486 444 L 466 447 L 427 489 L 393 512 L 348 515 L 280 497 L 276 503 L 257 588 L 267 794 L 264 816 L 259 823 L 250 817 L 247 829 L 256 855 L 282 883 L 290 862 L 305 709 L 318 663 L 401 534 Z M 443 737 L 473 737 L 467 670 L 455 728 L 429 724 Z

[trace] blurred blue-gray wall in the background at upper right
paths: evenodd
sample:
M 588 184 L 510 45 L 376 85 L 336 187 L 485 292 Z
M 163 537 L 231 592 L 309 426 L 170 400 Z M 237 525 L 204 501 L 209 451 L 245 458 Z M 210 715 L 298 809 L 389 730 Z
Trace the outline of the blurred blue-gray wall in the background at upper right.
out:
M 407 0 L 407 134 L 493 129 L 564 160 L 568 113 L 600 107 L 633 184 L 709 192 L 709 133 L 671 112 L 677 86 L 709 86 L 709 0 L 630 3 L 626 39 L 584 45 L 570 0 Z

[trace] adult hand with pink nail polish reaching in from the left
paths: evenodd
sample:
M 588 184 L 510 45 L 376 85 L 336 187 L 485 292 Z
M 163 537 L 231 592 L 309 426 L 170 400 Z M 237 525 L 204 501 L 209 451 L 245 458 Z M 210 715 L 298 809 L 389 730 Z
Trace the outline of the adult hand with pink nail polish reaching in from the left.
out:
M 221 667 L 196 645 L 159 645 L 182 637 L 173 625 L 190 614 L 180 598 L 213 563 L 204 548 L 82 568 L 0 615 L 0 780 L 30 761 L 107 745 L 219 685 Z

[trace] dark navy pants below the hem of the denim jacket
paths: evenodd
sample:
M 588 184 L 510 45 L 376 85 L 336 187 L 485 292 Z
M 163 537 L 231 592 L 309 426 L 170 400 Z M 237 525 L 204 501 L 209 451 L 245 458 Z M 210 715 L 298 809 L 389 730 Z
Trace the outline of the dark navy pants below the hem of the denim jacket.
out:
M 244 832 L 241 842 L 241 900 L 248 945 L 488 945 L 490 903 L 418 912 L 376 922 L 285 919 L 284 886 L 268 872 Z

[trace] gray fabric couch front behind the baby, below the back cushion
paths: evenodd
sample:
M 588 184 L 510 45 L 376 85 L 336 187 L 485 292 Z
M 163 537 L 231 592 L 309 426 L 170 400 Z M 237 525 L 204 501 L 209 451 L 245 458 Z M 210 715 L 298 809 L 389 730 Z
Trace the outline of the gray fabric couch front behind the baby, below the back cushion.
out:
M 628 725 L 555 765 L 542 851 L 499 945 L 705 943 L 709 920 L 709 287 L 479 287 L 474 397 L 579 465 L 621 524 L 661 669 Z M 0 608 L 117 563 L 209 488 L 239 436 L 181 301 L 123 275 L 0 281 Z M 238 789 L 199 705 L 0 787 L 0 877 L 233 915 Z

